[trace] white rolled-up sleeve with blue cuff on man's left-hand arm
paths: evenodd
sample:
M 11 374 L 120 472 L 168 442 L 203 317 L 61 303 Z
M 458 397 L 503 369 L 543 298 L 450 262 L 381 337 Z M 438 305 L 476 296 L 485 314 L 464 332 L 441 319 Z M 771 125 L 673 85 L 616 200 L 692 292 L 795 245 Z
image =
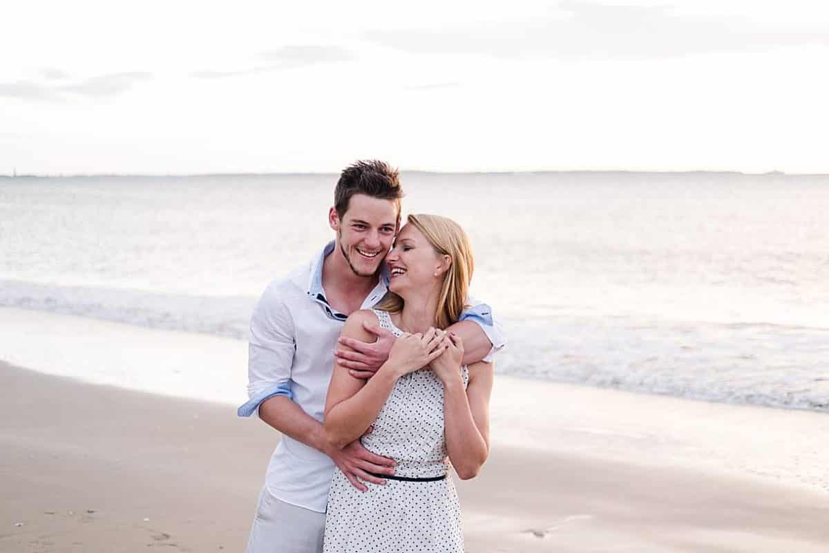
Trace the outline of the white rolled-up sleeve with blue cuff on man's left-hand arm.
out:
M 248 398 L 238 415 L 255 414 L 274 395 L 291 395 L 291 365 L 295 350 L 293 318 L 274 290 L 265 290 L 250 317 Z

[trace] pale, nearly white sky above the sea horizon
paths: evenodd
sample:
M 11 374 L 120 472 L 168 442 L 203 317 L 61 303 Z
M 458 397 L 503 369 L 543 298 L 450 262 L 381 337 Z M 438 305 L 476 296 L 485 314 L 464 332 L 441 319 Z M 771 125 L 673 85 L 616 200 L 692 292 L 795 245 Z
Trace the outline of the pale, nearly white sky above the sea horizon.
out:
M 5 5 L 0 174 L 829 172 L 824 0 L 221 4 Z

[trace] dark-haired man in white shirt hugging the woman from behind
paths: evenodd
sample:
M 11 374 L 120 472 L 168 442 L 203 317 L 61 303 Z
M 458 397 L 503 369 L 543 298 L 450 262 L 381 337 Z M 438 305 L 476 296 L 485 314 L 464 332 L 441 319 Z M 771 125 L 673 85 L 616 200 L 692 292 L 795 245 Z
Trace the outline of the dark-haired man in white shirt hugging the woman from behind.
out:
M 398 172 L 377 161 L 347 167 L 334 191 L 328 222 L 336 232 L 310 264 L 274 280 L 250 321 L 250 401 L 239 410 L 279 430 L 282 440 L 270 459 L 259 494 L 248 553 L 322 551 L 325 509 L 334 465 L 355 488 L 371 475 L 394 474 L 394 461 L 371 454 L 359 440 L 337 448 L 322 429 L 332 362 L 369 378 L 386 360 L 394 335 L 376 325 L 366 330 L 373 344 L 349 341 L 337 349 L 347 316 L 372 308 L 386 293 L 383 258 L 400 228 Z M 466 320 L 464 320 L 466 319 Z M 452 332 L 463 339 L 464 363 L 481 361 L 503 346 L 489 308 L 479 304 L 462 315 Z

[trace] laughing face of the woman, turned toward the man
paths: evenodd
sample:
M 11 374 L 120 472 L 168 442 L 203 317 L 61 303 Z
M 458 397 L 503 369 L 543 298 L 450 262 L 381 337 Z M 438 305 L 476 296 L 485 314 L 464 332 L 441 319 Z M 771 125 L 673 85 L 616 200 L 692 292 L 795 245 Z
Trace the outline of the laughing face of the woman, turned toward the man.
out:
M 439 280 L 435 273 L 441 269 L 442 259 L 417 227 L 407 223 L 385 255 L 385 264 L 390 274 L 389 289 L 400 294 L 407 289 L 434 286 Z

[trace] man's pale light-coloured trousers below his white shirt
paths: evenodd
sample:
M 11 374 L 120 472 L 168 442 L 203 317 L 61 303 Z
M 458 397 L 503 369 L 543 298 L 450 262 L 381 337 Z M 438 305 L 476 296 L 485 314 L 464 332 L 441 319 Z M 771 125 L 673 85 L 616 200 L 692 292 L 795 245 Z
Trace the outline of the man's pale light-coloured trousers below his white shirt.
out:
M 322 553 L 325 513 L 297 507 L 259 492 L 247 553 Z

